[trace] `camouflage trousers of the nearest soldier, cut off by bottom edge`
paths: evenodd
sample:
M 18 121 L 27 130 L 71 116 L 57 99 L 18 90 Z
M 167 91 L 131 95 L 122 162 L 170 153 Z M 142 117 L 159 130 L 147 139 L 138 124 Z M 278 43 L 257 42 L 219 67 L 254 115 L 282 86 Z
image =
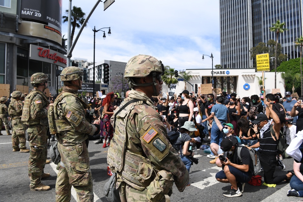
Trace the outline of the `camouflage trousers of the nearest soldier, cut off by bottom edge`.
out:
M 134 189 L 133 187 L 131 187 L 130 185 L 126 184 L 125 182 L 121 182 L 119 186 L 119 194 L 120 194 L 120 200 L 121 202 L 150 202 L 150 200 L 148 200 L 146 194 L 147 194 L 147 189 L 140 191 L 137 189 Z M 165 196 L 163 196 L 160 200 L 158 200 L 159 202 L 165 202 L 165 201 L 169 201 L 169 197 L 166 195 L 166 199 Z

